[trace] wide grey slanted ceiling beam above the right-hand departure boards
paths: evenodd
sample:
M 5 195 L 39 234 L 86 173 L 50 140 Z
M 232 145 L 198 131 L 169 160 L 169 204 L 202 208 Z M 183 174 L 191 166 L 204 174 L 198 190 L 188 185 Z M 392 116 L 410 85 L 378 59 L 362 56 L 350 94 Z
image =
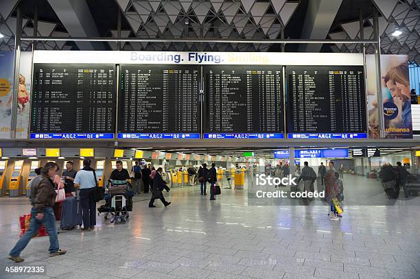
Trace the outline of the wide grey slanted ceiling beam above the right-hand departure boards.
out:
M 308 3 L 301 38 L 325 39 L 342 0 L 311 0 Z M 319 52 L 322 45 L 301 45 L 300 51 Z

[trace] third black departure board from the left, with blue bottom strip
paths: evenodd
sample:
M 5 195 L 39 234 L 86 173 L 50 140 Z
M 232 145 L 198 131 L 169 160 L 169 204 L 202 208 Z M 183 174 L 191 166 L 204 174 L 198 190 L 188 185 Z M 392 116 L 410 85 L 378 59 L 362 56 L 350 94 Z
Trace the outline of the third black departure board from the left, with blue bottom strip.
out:
M 281 66 L 203 66 L 204 138 L 283 138 Z

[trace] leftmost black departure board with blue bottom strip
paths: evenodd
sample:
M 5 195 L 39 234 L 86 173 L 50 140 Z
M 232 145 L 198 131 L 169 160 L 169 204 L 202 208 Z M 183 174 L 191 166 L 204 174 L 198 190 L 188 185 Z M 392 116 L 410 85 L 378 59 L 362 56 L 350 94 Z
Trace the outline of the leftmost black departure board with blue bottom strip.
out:
M 34 64 L 31 138 L 113 138 L 113 64 Z

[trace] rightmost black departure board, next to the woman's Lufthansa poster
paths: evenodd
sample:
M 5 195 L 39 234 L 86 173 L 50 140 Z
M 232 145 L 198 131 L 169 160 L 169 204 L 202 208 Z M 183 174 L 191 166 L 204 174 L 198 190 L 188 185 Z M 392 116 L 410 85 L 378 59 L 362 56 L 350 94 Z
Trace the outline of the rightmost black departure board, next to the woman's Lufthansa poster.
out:
M 366 138 L 363 66 L 287 66 L 289 138 Z

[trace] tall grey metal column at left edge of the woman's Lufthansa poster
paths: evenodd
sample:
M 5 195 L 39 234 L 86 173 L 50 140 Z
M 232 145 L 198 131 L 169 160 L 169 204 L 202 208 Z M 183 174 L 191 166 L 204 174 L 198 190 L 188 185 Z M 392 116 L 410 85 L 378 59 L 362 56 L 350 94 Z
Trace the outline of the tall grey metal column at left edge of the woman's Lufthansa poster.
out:
M 382 102 L 382 77 L 381 77 L 381 38 L 379 33 L 379 21 L 377 19 L 377 9 L 373 10 L 373 34 L 375 34 L 375 65 L 376 65 L 376 97 L 377 113 L 379 119 L 380 138 L 384 138 L 384 103 Z

